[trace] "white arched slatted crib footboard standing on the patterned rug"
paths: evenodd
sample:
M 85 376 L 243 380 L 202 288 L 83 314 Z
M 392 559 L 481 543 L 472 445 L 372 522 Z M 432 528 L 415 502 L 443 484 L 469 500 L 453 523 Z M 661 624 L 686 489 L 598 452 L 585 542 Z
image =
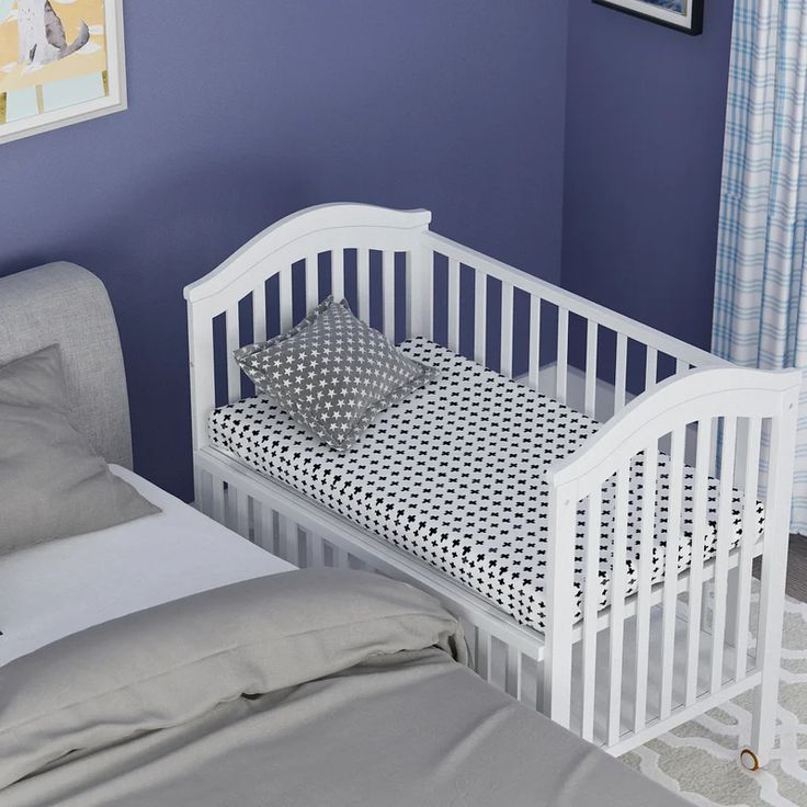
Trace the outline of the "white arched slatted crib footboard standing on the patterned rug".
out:
M 757 685 L 751 747 L 764 763 L 799 385 L 797 371 L 692 371 L 548 470 L 544 703 L 554 720 L 622 752 Z

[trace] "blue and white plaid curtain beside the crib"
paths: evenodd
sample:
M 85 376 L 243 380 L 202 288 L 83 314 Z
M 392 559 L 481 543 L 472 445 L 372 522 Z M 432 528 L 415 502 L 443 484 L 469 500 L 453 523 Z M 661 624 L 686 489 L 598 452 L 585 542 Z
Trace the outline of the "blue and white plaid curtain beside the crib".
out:
M 807 2 L 736 0 L 712 346 L 807 368 Z M 807 385 L 806 385 L 807 386 Z M 807 534 L 807 389 L 794 532 Z

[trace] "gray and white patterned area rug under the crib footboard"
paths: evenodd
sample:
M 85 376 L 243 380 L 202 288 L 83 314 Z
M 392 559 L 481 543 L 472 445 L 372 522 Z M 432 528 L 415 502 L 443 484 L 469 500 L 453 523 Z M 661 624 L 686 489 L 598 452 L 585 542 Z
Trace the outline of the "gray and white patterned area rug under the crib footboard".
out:
M 807 807 L 807 604 L 787 599 L 773 759 L 739 763 L 751 735 L 753 692 L 625 754 L 646 776 L 702 807 Z

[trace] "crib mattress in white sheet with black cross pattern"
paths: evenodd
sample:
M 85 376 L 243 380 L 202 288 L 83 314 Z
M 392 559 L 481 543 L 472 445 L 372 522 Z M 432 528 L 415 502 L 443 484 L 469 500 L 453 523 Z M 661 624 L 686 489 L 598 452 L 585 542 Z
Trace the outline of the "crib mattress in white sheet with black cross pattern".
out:
M 380 413 L 345 454 L 300 430 L 258 396 L 214 410 L 213 444 L 249 467 L 406 549 L 482 594 L 519 623 L 544 628 L 549 489 L 545 469 L 576 451 L 600 424 L 429 340 L 400 348 L 440 368 L 439 379 Z M 663 579 L 669 516 L 669 459 L 659 455 L 652 581 Z M 630 470 L 626 571 L 638 587 L 641 463 Z M 684 469 L 678 566 L 689 568 L 694 470 Z M 714 556 L 717 482 L 709 479 L 704 560 Z M 600 606 L 610 602 L 615 487 L 603 489 Z M 735 545 L 742 495 L 732 498 Z M 755 504 L 761 531 L 762 505 Z M 576 547 L 577 618 L 581 617 L 582 528 Z

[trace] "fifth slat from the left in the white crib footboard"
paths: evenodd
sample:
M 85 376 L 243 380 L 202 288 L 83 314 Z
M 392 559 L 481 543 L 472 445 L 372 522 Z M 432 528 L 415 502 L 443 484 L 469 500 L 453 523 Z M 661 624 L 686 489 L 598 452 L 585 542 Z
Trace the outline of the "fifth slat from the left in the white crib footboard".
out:
M 692 521 L 692 557 L 686 609 L 686 694 L 691 706 L 697 697 L 697 667 L 701 647 L 701 611 L 703 606 L 703 553 L 706 532 L 706 498 L 712 447 L 712 419 L 697 423 L 697 453 L 695 455 L 695 504 Z

